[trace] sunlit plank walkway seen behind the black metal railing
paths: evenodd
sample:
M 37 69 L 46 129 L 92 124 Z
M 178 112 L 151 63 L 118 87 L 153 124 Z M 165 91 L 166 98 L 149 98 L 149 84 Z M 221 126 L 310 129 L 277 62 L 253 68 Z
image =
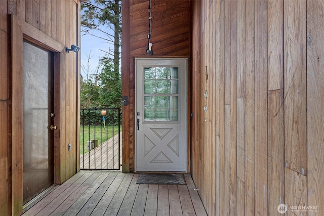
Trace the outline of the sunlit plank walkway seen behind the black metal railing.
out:
M 115 135 L 90 152 L 80 155 L 80 169 L 120 169 L 119 162 L 121 163 L 121 133 L 119 137 Z

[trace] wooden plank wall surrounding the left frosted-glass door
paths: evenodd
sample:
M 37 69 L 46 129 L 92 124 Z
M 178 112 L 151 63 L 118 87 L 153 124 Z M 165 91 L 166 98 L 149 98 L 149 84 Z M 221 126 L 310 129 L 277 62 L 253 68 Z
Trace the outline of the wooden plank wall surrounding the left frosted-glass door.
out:
M 3 215 L 18 215 L 22 206 L 12 208 L 19 200 L 12 201 L 12 150 L 11 127 L 16 121 L 11 121 L 11 47 L 10 47 L 10 20 L 9 15 L 19 19 L 47 34 L 64 46 L 72 44 L 79 46 L 78 29 L 80 3 L 77 0 L 23 0 L 1 1 L 0 5 L 0 212 Z M 78 43 L 78 44 L 77 44 Z M 56 184 L 63 183 L 77 171 L 77 142 L 78 125 L 77 111 L 79 108 L 79 55 L 73 52 L 62 52 L 60 77 L 60 130 L 59 155 L 55 155 L 56 162 L 60 163 L 60 170 L 55 174 Z M 67 145 L 72 144 L 68 151 Z M 19 177 L 22 178 L 22 177 Z M 22 197 L 22 191 L 16 191 Z M 13 202 L 13 203 L 12 203 Z

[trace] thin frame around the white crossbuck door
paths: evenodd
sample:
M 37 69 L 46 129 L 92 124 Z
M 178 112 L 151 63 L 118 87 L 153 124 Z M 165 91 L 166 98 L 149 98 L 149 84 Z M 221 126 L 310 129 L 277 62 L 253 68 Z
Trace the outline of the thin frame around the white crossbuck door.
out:
M 189 100 L 189 85 L 188 83 L 190 83 L 190 76 L 189 76 L 189 71 L 190 71 L 190 59 L 189 59 L 189 56 L 152 56 L 152 57 L 147 57 L 147 56 L 134 56 L 133 60 L 134 60 L 134 79 L 135 79 L 135 94 L 134 94 L 134 119 L 137 119 L 137 115 L 136 115 L 136 107 L 137 107 L 137 94 L 136 94 L 136 88 L 137 88 L 137 60 L 153 60 L 153 59 L 165 59 L 165 60 L 174 60 L 174 59 L 186 59 L 187 60 L 187 74 L 186 74 L 186 80 L 185 80 L 185 89 L 186 89 L 186 142 L 187 142 L 187 165 L 186 165 L 186 171 L 183 172 L 183 173 L 189 173 L 190 172 L 190 125 L 189 125 L 189 122 L 190 122 L 190 117 L 189 117 L 189 107 L 190 107 L 190 100 Z M 136 127 L 137 126 L 137 122 L 136 120 L 134 120 L 134 171 L 136 172 L 136 158 L 137 158 L 137 154 L 136 154 L 136 147 L 137 147 L 137 132 L 136 132 Z M 145 172 L 148 172 L 148 171 L 145 171 Z M 154 172 L 154 171 L 152 171 Z M 179 172 L 177 172 L 179 173 Z M 180 172 L 181 173 L 181 172 Z

